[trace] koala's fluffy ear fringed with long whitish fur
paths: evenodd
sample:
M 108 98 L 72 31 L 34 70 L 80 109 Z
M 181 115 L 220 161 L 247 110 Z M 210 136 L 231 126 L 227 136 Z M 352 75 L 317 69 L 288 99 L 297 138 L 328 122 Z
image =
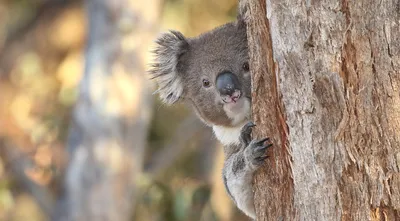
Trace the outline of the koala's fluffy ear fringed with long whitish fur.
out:
M 158 84 L 158 94 L 166 104 L 175 103 L 183 93 L 181 75 L 178 73 L 180 57 L 188 50 L 185 36 L 178 31 L 164 33 L 157 40 L 153 51 L 155 61 L 150 74 Z

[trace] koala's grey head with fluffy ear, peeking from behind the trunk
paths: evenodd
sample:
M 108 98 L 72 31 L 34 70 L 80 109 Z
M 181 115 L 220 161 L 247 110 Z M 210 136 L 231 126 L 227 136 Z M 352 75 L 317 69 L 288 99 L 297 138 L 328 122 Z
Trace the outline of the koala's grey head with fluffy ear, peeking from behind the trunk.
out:
M 250 115 L 246 26 L 236 21 L 198 37 L 171 31 L 157 39 L 150 71 L 161 100 L 190 102 L 208 125 L 234 127 Z

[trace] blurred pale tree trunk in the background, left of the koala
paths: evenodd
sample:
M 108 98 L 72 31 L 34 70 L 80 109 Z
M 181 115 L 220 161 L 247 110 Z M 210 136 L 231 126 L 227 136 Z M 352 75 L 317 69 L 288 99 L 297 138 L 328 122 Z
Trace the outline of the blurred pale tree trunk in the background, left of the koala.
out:
M 157 1 L 151 2 L 157 13 Z M 68 140 L 65 192 L 53 219 L 130 220 L 152 105 L 140 58 L 155 16 L 141 10 L 140 1 L 86 3 L 86 65 Z

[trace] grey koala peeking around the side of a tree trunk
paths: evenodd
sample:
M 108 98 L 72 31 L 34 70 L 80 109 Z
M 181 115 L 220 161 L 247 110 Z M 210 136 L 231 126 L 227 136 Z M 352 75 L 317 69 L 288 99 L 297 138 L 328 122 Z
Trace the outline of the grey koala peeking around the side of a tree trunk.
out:
M 224 145 L 222 177 L 236 206 L 256 218 L 252 191 L 254 172 L 267 158 L 268 138 L 253 140 L 251 76 L 243 20 L 217 27 L 197 37 L 178 31 L 162 34 L 149 71 L 166 104 L 189 103 L 212 127 Z

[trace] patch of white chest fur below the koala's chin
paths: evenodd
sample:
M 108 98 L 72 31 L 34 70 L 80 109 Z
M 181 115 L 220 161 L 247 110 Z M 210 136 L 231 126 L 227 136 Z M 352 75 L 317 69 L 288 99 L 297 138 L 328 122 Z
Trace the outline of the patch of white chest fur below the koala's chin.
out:
M 245 123 L 237 127 L 213 126 L 214 134 L 223 145 L 239 145 L 240 131 Z

